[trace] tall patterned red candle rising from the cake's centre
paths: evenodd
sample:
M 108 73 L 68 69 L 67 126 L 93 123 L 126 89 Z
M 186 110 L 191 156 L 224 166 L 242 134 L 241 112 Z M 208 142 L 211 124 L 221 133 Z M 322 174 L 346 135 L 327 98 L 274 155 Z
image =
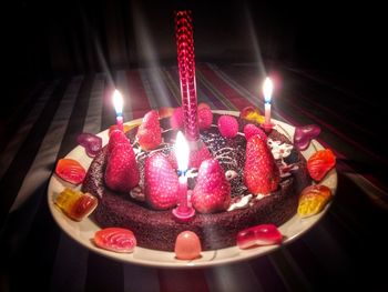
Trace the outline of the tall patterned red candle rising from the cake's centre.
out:
M 175 16 L 177 66 L 180 69 L 184 130 L 188 141 L 200 139 L 195 81 L 193 21 L 191 11 L 177 11 Z

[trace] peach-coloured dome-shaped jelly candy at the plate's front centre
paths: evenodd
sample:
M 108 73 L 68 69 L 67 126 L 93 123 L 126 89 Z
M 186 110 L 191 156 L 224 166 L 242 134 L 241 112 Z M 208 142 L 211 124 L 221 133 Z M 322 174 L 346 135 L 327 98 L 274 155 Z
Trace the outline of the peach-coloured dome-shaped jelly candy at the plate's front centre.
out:
M 194 260 L 201 256 L 201 241 L 192 231 L 183 231 L 176 236 L 175 255 L 180 260 Z

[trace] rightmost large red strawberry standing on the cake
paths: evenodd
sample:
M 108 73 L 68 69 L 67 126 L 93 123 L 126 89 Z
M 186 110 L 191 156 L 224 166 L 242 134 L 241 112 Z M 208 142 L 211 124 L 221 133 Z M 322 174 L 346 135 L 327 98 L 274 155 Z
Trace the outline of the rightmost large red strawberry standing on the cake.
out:
M 244 183 L 253 194 L 275 191 L 280 180 L 279 170 L 267 143 L 253 135 L 246 144 Z

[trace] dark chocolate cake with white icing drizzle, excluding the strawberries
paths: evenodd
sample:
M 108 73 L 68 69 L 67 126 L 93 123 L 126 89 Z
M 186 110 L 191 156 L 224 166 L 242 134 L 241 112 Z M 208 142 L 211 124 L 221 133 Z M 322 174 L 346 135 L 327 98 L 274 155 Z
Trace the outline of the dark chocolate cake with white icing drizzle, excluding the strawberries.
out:
M 214 121 L 219 118 L 214 114 Z M 136 128 L 132 129 L 127 137 L 136 152 L 136 161 L 141 172 L 140 187 L 131 194 L 113 192 L 104 183 L 104 170 L 106 167 L 106 147 L 94 158 L 82 191 L 89 192 L 99 199 L 99 205 L 92 214 L 92 220 L 101 228 L 122 226 L 133 231 L 137 245 L 142 248 L 173 251 L 178 233 L 185 230 L 195 232 L 201 239 L 203 250 L 214 250 L 236 244 L 238 231 L 262 223 L 282 225 L 288 221 L 297 210 L 298 194 L 312 183 L 306 170 L 305 158 L 292 148 L 289 139 L 274 129 L 268 134 L 268 142 L 275 145 L 287 145 L 289 154 L 277 159 L 280 170 L 280 183 L 278 189 L 262 198 L 252 197 L 244 185 L 243 171 L 245 163 L 246 139 L 243 128 L 245 120 L 238 119 L 239 130 L 237 137 L 226 139 L 219 134 L 215 124 L 208 130 L 201 131 L 201 139 L 217 159 L 229 177 L 232 189 L 232 203 L 228 211 L 202 214 L 196 213 L 193 220 L 181 223 L 175 220 L 171 210 L 156 211 L 149 208 L 141 198 L 144 183 L 144 160 L 150 152 L 140 151 L 135 142 Z M 173 148 L 173 139 L 176 131 L 170 129 L 169 119 L 161 119 L 163 129 L 163 143 L 156 151 L 169 154 Z M 274 148 L 274 147 L 273 147 Z M 154 152 L 154 151 L 153 151 Z M 196 170 L 188 181 L 188 188 L 195 185 Z

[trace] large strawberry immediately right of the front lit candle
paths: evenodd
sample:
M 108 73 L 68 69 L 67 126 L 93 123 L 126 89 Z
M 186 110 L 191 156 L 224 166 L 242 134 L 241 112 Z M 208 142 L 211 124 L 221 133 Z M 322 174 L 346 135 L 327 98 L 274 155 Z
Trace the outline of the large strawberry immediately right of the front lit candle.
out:
M 231 203 L 231 184 L 215 159 L 202 162 L 192 194 L 193 207 L 201 213 L 224 211 Z

